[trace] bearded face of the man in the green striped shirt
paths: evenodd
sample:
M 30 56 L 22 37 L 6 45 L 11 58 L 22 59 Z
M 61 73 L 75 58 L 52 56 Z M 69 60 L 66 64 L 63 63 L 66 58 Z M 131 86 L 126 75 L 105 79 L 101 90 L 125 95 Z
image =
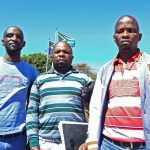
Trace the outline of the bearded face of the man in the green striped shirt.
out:
M 52 61 L 56 70 L 66 70 L 67 68 L 70 69 L 72 59 L 72 49 L 67 43 L 59 42 L 54 46 Z

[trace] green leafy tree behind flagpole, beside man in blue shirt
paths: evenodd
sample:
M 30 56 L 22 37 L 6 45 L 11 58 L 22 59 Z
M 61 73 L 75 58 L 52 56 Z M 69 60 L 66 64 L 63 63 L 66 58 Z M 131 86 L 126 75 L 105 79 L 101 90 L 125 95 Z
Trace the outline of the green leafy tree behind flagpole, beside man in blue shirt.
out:
M 47 62 L 47 55 L 42 53 L 34 53 L 29 55 L 23 55 L 22 60 L 26 61 L 27 63 L 33 65 L 39 73 L 46 71 L 46 62 Z M 51 68 L 51 56 L 48 56 L 48 70 Z

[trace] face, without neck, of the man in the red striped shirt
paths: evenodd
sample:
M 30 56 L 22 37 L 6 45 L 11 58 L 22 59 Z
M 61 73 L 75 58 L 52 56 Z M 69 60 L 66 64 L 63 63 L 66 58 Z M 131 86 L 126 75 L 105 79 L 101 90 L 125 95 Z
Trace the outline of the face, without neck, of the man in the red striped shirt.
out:
M 137 50 L 138 42 L 141 39 L 137 22 L 130 17 L 120 19 L 115 27 L 114 40 L 120 51 Z

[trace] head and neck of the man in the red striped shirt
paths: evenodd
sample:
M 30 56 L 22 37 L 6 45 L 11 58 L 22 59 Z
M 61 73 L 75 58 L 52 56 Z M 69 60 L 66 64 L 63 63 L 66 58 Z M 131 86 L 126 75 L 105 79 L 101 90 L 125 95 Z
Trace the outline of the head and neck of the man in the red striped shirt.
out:
M 127 62 L 138 52 L 138 42 L 142 38 L 137 20 L 129 15 L 120 17 L 115 25 L 113 37 L 118 46 L 120 58 Z

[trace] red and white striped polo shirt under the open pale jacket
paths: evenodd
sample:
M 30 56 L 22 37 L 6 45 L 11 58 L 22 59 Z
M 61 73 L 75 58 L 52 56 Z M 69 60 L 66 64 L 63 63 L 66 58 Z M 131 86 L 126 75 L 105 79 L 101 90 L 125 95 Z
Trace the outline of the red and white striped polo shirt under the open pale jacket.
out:
M 109 85 L 108 110 L 103 134 L 113 140 L 143 142 L 140 88 L 137 60 L 140 51 L 124 63 L 119 56 L 114 62 L 114 74 Z

